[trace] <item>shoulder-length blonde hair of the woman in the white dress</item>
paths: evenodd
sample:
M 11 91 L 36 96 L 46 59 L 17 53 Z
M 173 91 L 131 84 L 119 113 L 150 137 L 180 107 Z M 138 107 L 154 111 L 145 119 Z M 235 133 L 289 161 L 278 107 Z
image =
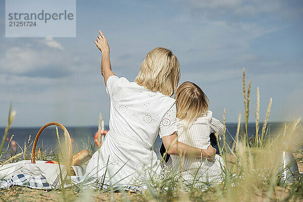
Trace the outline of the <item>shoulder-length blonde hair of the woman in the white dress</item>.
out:
M 152 49 L 141 64 L 135 82 L 150 91 L 160 91 L 167 96 L 175 94 L 180 80 L 177 57 L 164 47 Z

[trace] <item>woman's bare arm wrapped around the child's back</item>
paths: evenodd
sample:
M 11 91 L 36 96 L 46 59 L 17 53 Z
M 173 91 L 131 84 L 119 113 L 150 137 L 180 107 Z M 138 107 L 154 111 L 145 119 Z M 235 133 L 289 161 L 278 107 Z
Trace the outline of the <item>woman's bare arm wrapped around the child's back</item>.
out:
M 172 135 L 162 137 L 163 144 L 169 155 L 178 156 L 179 154 L 185 157 L 200 158 L 201 153 L 203 158 L 208 158 L 209 161 L 214 160 L 216 149 L 210 145 L 208 149 L 200 149 L 178 141 L 176 132 Z

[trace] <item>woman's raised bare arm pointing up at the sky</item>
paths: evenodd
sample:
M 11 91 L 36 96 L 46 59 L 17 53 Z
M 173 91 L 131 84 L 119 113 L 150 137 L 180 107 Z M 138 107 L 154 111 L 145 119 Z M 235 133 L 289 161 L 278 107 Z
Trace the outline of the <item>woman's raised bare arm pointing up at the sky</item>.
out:
M 101 59 L 101 73 L 104 77 L 105 85 L 107 84 L 107 80 L 110 76 L 115 75 L 112 72 L 111 61 L 110 61 L 110 46 L 108 44 L 107 39 L 104 34 L 99 30 L 99 35 L 97 36 L 95 42 L 96 46 L 102 53 Z

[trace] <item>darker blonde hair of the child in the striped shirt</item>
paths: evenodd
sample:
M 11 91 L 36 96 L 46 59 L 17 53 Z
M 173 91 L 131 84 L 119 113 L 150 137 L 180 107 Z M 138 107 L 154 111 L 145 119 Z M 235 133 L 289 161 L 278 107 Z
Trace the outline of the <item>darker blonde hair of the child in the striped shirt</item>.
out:
M 186 81 L 176 91 L 177 118 L 189 127 L 197 117 L 207 113 L 209 98 L 196 84 Z

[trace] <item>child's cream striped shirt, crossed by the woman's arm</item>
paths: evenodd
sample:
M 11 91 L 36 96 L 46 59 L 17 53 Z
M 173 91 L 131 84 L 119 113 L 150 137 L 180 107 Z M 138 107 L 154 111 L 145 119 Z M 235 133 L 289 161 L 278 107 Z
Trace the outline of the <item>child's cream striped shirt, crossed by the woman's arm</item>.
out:
M 184 130 L 183 121 L 177 119 L 178 141 L 185 144 L 207 149 L 210 142 L 211 132 L 217 133 L 219 136 L 223 134 L 223 124 L 212 117 L 213 113 L 208 111 L 205 115 L 198 117 L 189 127 Z M 202 162 L 198 158 L 183 158 L 179 156 L 171 156 L 172 166 L 185 180 L 195 180 L 200 182 L 217 182 L 222 179 L 222 166 L 224 161 L 221 156 L 216 155 L 213 162 L 207 159 Z

